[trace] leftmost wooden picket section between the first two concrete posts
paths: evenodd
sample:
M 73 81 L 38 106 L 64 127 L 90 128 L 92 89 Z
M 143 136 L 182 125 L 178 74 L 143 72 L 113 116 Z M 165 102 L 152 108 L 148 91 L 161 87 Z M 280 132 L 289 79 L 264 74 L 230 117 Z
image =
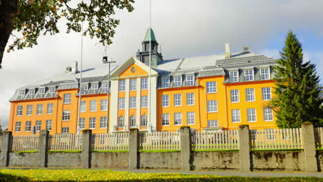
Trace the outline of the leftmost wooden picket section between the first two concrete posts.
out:
M 38 149 L 39 136 L 28 135 L 28 136 L 11 136 L 11 151 L 36 151 Z

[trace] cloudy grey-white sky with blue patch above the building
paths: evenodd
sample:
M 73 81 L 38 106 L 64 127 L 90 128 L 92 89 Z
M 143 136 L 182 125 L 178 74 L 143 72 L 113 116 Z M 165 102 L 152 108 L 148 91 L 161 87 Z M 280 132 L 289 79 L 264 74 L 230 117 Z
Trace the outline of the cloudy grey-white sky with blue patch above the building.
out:
M 303 44 L 304 60 L 317 65 L 323 79 L 322 0 L 152 0 L 152 28 L 164 59 L 223 54 L 224 43 L 233 52 L 244 45 L 251 52 L 279 58 L 289 29 Z M 149 27 L 149 0 L 135 3 L 133 12 L 120 10 L 108 55 L 123 63 L 141 47 Z M 5 53 L 0 70 L 0 119 L 8 127 L 10 102 L 17 88 L 65 71 L 80 61 L 81 34 L 61 33 L 39 38 L 34 48 Z M 96 39 L 84 38 L 84 68 L 101 65 L 104 48 Z M 106 66 L 106 65 L 105 65 Z M 323 81 L 321 81 L 323 83 Z

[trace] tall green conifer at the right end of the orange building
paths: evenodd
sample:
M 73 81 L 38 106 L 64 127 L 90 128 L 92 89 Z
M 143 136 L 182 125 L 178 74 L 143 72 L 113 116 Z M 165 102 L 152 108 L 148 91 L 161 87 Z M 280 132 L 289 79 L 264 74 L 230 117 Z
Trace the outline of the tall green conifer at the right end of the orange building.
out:
M 315 65 L 303 61 L 302 44 L 291 30 L 280 57 L 274 68 L 275 98 L 271 101 L 277 126 L 300 128 L 305 121 L 322 126 L 320 79 L 316 75 Z

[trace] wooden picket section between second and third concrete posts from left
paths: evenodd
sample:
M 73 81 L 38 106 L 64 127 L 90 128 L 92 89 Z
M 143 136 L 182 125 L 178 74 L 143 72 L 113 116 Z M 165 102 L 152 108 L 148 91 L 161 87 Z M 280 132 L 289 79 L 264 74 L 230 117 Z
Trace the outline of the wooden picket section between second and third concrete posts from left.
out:
M 54 134 L 48 137 L 48 150 L 82 150 L 81 134 Z

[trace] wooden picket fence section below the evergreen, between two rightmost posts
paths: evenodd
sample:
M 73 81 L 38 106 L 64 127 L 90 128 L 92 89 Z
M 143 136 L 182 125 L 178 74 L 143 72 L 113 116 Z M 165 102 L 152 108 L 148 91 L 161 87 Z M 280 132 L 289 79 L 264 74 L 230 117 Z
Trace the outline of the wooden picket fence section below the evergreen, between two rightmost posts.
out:
M 251 130 L 251 150 L 302 149 L 300 128 Z

